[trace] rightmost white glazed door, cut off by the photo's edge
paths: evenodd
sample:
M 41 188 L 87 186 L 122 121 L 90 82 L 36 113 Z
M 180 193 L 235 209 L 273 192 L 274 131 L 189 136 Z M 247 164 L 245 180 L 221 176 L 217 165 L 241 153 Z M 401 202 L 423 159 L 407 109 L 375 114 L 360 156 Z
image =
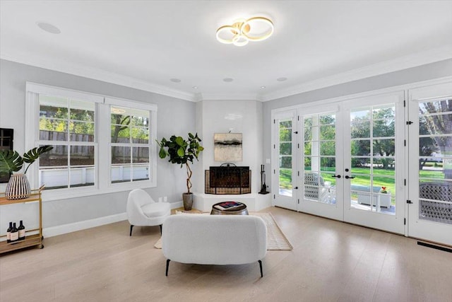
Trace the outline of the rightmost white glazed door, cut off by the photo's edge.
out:
M 408 234 L 452 245 L 452 83 L 409 91 Z

